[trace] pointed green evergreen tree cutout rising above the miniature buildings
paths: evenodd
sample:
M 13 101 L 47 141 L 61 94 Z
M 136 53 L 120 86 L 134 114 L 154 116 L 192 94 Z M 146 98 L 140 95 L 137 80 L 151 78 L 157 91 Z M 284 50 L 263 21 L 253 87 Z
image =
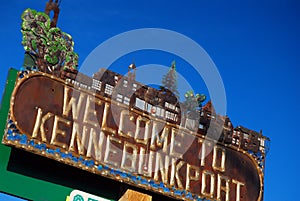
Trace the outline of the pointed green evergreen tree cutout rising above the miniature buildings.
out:
M 164 75 L 161 83 L 163 85 L 160 87 L 162 91 L 169 90 L 175 94 L 175 96 L 179 97 L 179 92 L 177 90 L 177 72 L 175 61 L 172 62 L 169 72 Z

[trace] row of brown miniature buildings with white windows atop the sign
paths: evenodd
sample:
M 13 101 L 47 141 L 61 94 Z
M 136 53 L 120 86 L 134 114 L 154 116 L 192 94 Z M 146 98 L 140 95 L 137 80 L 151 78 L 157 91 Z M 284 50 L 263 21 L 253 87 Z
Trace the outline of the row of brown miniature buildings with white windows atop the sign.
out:
M 170 123 L 175 123 L 188 129 L 198 128 L 200 135 L 206 135 L 208 127 L 212 124 L 223 127 L 219 142 L 231 144 L 246 151 L 254 153 L 265 153 L 265 141 L 268 138 L 262 133 L 247 129 L 243 126 L 233 127 L 229 117 L 220 116 L 216 118 L 216 113 L 212 102 L 209 101 L 203 106 L 201 111 L 195 111 L 194 116 L 181 117 L 180 103 L 172 92 L 164 92 L 143 85 L 128 77 L 122 76 L 116 72 L 106 69 L 100 69 L 99 72 L 89 78 L 78 73 L 76 80 L 66 78 L 68 82 L 73 83 L 80 88 L 95 90 L 99 95 L 106 96 L 121 104 L 128 105 L 131 108 L 145 112 L 148 115 L 161 118 Z

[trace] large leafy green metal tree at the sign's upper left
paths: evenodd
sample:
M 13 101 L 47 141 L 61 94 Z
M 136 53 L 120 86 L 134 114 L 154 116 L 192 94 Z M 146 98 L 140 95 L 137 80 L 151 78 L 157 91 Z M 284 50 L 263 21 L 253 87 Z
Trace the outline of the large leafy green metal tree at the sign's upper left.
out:
M 43 12 L 27 9 L 22 14 L 22 45 L 36 58 L 35 64 L 45 72 L 76 70 L 78 55 L 73 51 L 72 37 L 57 27 Z

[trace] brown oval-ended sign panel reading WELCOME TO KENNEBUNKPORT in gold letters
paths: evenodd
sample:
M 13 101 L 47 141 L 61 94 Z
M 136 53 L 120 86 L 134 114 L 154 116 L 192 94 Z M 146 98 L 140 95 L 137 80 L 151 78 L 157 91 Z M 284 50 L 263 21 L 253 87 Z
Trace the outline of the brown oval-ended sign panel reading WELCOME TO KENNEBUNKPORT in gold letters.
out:
M 30 73 L 17 81 L 3 143 L 176 199 L 262 200 L 263 173 L 248 152 L 141 112 L 136 101 Z

